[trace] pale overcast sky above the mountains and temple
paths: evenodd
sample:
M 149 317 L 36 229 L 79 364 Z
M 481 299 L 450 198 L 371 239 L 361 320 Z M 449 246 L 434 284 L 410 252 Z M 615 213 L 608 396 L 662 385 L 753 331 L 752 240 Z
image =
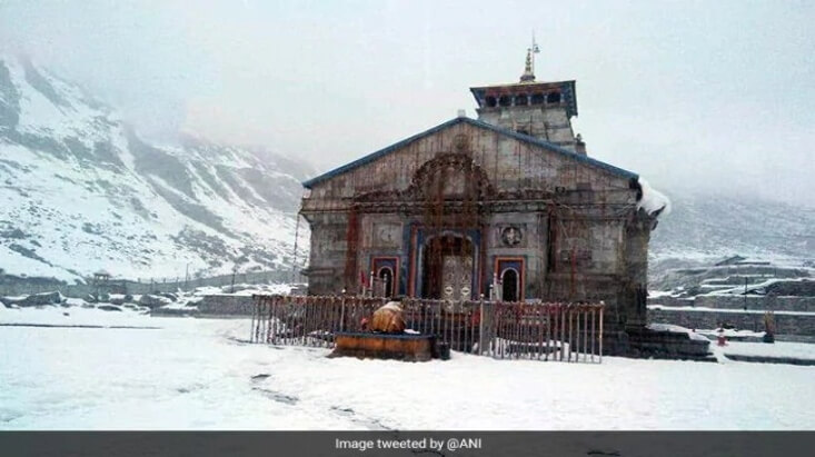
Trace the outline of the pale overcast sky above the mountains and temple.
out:
M 812 1 L 0 0 L 0 47 L 145 136 L 264 145 L 320 171 L 515 82 L 577 80 L 595 158 L 679 185 L 815 200 Z

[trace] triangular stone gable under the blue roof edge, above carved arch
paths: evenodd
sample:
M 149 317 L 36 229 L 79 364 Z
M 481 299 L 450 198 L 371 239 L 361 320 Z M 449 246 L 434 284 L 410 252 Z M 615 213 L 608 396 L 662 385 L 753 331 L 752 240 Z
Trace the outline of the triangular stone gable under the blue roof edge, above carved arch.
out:
M 314 185 L 305 212 L 347 209 L 349 200 L 371 191 L 406 190 L 416 172 L 439 155 L 466 150 L 497 191 L 606 191 L 606 203 L 633 202 L 628 178 L 560 152 L 466 122 L 408 142 L 390 153 Z

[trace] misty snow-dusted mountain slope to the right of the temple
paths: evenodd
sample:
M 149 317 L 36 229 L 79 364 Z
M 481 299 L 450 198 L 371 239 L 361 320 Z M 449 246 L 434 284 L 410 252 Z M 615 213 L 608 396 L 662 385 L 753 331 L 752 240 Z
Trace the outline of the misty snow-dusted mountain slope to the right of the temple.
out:
M 672 211 L 652 234 L 650 269 L 733 255 L 802 266 L 815 259 L 815 209 L 746 196 L 664 189 Z

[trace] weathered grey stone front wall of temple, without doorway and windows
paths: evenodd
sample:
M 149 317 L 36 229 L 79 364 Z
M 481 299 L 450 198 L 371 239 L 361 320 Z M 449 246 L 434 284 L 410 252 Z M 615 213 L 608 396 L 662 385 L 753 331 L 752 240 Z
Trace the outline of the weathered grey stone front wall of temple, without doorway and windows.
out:
M 355 290 L 381 256 L 398 259 L 399 291 L 411 295 L 420 230 L 449 228 L 480 238 L 476 296 L 488 294 L 497 258 L 520 259 L 525 298 L 604 300 L 609 334 L 642 327 L 654 218 L 637 211 L 634 179 L 471 122 L 441 126 L 310 185 L 301 210 L 311 228 L 309 292 Z M 473 216 L 474 203 L 477 223 L 460 222 L 456 215 Z M 518 244 L 499 241 L 510 225 Z

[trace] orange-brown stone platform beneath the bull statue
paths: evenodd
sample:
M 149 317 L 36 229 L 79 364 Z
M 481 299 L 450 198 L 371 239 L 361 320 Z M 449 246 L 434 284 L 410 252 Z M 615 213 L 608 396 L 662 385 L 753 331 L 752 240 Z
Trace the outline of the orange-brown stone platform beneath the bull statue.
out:
M 427 361 L 433 358 L 434 340 L 431 335 L 340 331 L 328 357 Z

